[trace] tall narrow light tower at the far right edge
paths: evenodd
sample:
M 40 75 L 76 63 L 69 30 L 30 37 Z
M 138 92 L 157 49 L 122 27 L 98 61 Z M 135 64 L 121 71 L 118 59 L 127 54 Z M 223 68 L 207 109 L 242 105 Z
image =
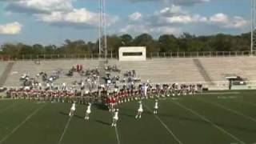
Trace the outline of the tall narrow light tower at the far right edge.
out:
M 256 48 L 256 0 L 251 0 L 251 39 L 250 54 L 254 54 Z

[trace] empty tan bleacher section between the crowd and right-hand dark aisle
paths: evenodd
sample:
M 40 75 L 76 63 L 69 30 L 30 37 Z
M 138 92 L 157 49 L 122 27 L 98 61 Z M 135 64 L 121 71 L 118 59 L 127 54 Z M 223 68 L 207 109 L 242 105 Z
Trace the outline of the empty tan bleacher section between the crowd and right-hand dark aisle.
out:
M 116 64 L 122 73 L 126 70 L 136 70 L 142 82 L 147 79 L 155 83 L 204 81 L 191 58 L 159 58 L 146 62 L 110 61 L 110 64 Z

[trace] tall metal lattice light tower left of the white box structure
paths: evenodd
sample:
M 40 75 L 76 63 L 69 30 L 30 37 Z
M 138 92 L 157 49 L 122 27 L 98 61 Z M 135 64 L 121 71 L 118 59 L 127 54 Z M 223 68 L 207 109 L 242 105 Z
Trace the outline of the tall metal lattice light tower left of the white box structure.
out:
M 99 21 L 98 21 L 98 54 L 107 62 L 107 43 L 106 43 L 106 1 L 99 0 Z

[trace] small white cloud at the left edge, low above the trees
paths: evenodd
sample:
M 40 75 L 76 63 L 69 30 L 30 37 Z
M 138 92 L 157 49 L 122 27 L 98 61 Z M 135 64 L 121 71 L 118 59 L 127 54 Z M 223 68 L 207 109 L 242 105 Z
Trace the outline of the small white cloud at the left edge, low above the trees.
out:
M 22 30 L 22 25 L 18 22 L 7 23 L 0 25 L 0 34 L 14 35 L 19 34 Z

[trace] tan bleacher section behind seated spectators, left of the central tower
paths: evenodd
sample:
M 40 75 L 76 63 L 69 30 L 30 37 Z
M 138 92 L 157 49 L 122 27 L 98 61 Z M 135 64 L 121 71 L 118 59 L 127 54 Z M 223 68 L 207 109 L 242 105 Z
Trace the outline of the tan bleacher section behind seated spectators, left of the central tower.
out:
M 98 66 L 98 61 L 82 61 L 82 60 L 58 60 L 58 61 L 42 61 L 40 65 L 34 63 L 34 61 L 19 61 L 16 62 L 13 66 L 13 69 L 8 74 L 5 86 L 20 86 L 19 78 L 22 74 L 29 74 L 31 78 L 35 78 L 35 75 L 40 72 L 46 72 L 47 74 L 52 74 L 54 70 L 62 69 L 66 74 L 72 66 L 77 64 L 82 64 L 83 69 L 87 70 L 88 68 L 94 69 Z M 65 75 L 62 78 L 58 79 L 56 84 L 62 84 L 62 82 L 72 83 L 75 80 L 80 81 L 83 79 L 78 74 L 74 73 L 73 77 L 67 77 Z M 38 78 L 39 82 L 42 82 L 41 78 Z

